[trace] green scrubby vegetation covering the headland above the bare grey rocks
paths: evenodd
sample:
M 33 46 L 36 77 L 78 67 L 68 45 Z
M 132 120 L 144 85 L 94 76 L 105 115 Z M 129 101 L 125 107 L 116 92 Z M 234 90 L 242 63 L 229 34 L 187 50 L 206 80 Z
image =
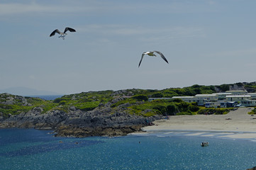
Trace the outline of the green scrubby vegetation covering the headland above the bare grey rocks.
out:
M 35 107 L 43 108 L 43 113 L 61 110 L 69 113 L 70 109 L 92 111 L 95 108 L 111 107 L 112 109 L 125 108 L 133 115 L 145 117 L 161 115 L 193 115 L 193 114 L 225 114 L 226 109 L 199 108 L 196 103 L 186 103 L 181 100 L 155 100 L 148 98 L 172 98 L 172 96 L 194 96 L 196 94 L 213 94 L 230 89 L 246 89 L 248 92 L 256 91 L 256 83 L 222 84 L 220 86 L 193 85 L 184 88 L 169 88 L 163 90 L 127 89 L 121 91 L 89 91 L 80 94 L 70 94 L 56 98 L 54 101 L 45 101 L 40 98 L 0 94 L 0 116 L 27 113 Z

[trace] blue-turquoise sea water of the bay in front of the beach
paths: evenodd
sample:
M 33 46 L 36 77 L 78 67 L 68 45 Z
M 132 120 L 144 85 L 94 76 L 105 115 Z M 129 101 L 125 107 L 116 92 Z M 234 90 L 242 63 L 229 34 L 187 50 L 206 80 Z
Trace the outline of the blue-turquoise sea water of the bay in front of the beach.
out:
M 52 137 L 47 130 L 0 130 L 0 169 L 247 169 L 256 142 L 186 135 Z M 202 141 L 210 142 L 201 147 Z

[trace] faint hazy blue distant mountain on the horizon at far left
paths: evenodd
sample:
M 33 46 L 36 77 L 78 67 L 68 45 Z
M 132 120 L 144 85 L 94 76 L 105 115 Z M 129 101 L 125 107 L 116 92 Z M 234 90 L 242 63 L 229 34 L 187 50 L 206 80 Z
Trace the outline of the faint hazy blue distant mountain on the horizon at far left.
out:
M 10 87 L 8 89 L 0 89 L 0 94 L 8 93 L 18 96 L 52 96 L 52 95 L 62 95 L 52 91 L 40 91 L 37 89 L 30 89 L 27 87 Z

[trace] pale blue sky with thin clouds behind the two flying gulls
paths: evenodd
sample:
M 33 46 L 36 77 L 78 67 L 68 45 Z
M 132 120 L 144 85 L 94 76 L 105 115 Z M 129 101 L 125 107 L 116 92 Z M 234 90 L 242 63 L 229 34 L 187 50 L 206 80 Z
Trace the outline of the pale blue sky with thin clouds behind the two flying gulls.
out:
M 255 81 L 254 0 L 0 1 L 0 89 L 59 94 Z M 74 28 L 65 40 L 55 29 Z M 146 56 L 158 50 L 169 64 Z

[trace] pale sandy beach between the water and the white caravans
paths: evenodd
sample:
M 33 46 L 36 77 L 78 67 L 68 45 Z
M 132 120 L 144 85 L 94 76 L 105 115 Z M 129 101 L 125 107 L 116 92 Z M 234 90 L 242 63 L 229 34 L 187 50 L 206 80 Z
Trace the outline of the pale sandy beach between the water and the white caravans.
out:
M 226 115 L 173 115 L 156 120 L 146 132 L 186 133 L 189 135 L 256 139 L 256 115 L 248 115 L 252 108 L 238 108 Z M 191 132 L 191 133 L 188 133 Z

